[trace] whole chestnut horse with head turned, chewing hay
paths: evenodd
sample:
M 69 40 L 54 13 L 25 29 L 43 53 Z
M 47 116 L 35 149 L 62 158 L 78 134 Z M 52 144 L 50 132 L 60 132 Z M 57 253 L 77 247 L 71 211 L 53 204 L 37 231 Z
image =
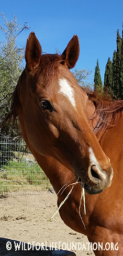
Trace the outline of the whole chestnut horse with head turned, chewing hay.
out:
M 79 58 L 77 36 L 61 55 L 41 55 L 32 32 L 25 58 L 5 122 L 19 117 L 24 140 L 55 192 L 65 188 L 58 193 L 58 206 L 76 182 L 75 175 L 80 177 L 86 215 L 83 204 L 80 215 L 78 182 L 59 210 L 65 224 L 88 237 L 95 255 L 123 255 L 123 103 L 96 99 L 77 84 L 69 70 Z

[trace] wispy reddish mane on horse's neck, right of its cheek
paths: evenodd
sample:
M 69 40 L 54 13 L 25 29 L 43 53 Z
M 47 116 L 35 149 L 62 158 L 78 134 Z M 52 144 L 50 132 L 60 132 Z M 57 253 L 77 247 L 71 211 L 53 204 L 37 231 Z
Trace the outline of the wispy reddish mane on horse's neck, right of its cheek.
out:
M 98 117 L 97 125 L 94 127 L 93 131 L 95 135 L 101 132 L 101 137 L 106 131 L 107 127 L 113 127 L 117 123 L 118 113 L 123 110 L 123 101 L 120 99 L 111 99 L 109 96 L 102 94 L 98 96 L 97 93 L 84 88 L 90 101 L 95 105 L 95 113 L 92 115 L 90 120 L 94 120 Z

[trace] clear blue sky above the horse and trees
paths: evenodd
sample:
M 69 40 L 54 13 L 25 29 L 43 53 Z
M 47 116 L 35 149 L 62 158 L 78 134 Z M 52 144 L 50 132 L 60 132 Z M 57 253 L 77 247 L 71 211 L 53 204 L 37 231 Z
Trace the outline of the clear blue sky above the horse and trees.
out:
M 55 53 L 57 47 L 62 53 L 76 34 L 80 40 L 80 57 L 76 69 L 92 70 L 92 78 L 97 59 L 104 81 L 105 65 L 108 57 L 113 57 L 116 49 L 116 31 L 122 33 L 123 1 L 121 0 L 4 0 L 1 12 L 10 21 L 13 14 L 23 27 L 27 21 L 31 29 L 23 31 L 17 44 L 26 46 L 26 40 L 34 31 L 40 41 L 42 51 Z M 0 16 L 0 24 L 4 21 Z M 0 30 L 0 40 L 4 33 Z

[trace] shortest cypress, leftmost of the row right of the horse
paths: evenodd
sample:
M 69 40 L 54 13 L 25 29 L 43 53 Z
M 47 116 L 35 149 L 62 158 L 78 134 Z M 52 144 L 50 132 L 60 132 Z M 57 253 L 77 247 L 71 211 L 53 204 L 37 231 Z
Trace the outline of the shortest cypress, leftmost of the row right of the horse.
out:
M 103 93 L 103 82 L 100 76 L 98 59 L 97 59 L 97 64 L 95 67 L 95 74 L 94 74 L 94 92 L 97 92 L 99 95 Z

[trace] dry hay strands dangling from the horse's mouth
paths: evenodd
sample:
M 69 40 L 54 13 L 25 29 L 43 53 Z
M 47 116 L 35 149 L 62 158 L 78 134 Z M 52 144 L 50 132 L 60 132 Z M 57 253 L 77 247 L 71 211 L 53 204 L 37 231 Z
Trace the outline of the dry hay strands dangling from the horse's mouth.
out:
M 74 177 L 71 181 L 73 181 L 74 179 L 75 179 L 75 177 Z M 61 204 L 59 205 L 57 211 L 56 211 L 56 212 L 53 214 L 53 216 L 51 217 L 50 221 L 51 221 L 51 220 L 53 219 L 53 217 L 59 212 L 59 209 L 62 207 L 62 205 L 65 203 L 65 201 L 69 198 L 70 194 L 72 193 L 72 190 L 73 190 L 74 186 L 75 186 L 76 184 L 80 183 L 80 184 L 81 184 L 81 198 L 80 198 L 80 206 L 79 206 L 79 215 L 80 215 L 80 218 L 81 218 L 81 220 L 82 220 L 83 226 L 84 226 L 84 228 L 86 229 L 85 224 L 84 224 L 84 221 L 83 221 L 82 216 L 81 216 L 82 198 L 83 198 L 83 204 L 84 204 L 84 213 L 86 214 L 86 207 L 85 207 L 85 190 L 84 190 L 84 184 L 82 184 L 82 183 L 79 181 L 79 179 L 80 179 L 80 177 L 77 178 L 77 181 L 76 181 L 75 183 L 69 184 L 69 183 L 71 182 L 71 181 L 69 181 L 69 182 L 66 183 L 66 184 L 69 184 L 69 185 L 67 185 L 67 186 L 66 186 L 66 184 L 64 185 L 64 186 L 66 186 L 66 187 L 64 188 L 64 190 L 62 191 L 62 193 L 63 193 L 63 192 L 65 191 L 65 189 L 66 189 L 67 187 L 69 187 L 70 185 L 72 186 L 72 188 L 71 188 L 70 192 L 68 193 L 68 195 L 66 195 L 66 197 L 64 198 L 64 200 L 61 202 Z M 64 187 L 64 186 L 63 186 L 63 187 Z M 63 188 L 63 187 L 62 187 L 62 188 Z M 62 188 L 60 189 L 60 191 L 62 190 Z M 60 193 L 60 191 L 58 192 L 58 194 Z M 61 193 L 61 195 L 62 195 L 62 193 Z M 57 194 L 57 195 L 58 195 L 58 194 Z

